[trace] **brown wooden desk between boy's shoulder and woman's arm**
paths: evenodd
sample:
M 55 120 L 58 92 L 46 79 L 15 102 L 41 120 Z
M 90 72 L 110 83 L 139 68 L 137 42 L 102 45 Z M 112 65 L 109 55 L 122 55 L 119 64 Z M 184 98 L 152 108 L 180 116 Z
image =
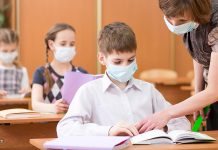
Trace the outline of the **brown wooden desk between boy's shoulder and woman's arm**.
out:
M 187 77 L 168 80 L 156 79 L 147 82 L 153 83 L 165 99 L 172 104 L 179 103 L 191 96 L 190 91 L 181 90 L 181 86 L 190 86 L 191 84 L 191 79 Z

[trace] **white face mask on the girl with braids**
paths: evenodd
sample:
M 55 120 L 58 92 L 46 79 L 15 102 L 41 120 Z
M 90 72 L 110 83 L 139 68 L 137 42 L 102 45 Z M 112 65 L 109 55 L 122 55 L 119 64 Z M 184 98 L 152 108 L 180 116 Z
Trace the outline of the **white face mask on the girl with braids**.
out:
M 76 48 L 73 47 L 62 47 L 62 46 L 55 46 L 55 59 L 62 63 L 70 62 L 74 56 L 76 55 Z

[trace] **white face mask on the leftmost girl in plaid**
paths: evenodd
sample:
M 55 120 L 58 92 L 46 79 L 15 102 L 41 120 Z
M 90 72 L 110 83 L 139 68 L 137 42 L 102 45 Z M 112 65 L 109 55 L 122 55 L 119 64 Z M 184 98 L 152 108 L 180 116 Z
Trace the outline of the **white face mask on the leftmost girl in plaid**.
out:
M 14 52 L 2 52 L 0 51 L 0 60 L 4 64 L 12 64 L 14 60 L 17 58 L 18 52 L 17 50 Z

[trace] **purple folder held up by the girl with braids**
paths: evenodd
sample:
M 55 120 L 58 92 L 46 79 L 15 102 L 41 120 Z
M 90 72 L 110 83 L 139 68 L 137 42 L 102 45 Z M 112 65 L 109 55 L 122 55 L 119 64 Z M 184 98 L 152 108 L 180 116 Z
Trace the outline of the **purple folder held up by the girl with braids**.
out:
M 64 85 L 61 91 L 62 98 L 70 104 L 79 87 L 89 81 L 101 78 L 103 75 L 91 75 L 81 72 L 67 72 L 64 75 Z

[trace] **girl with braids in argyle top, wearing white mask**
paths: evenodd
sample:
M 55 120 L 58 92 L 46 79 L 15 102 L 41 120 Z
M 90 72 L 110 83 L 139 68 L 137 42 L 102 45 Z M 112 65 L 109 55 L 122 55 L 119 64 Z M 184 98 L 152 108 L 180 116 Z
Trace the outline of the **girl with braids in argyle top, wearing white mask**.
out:
M 39 112 L 64 113 L 68 109 L 61 95 L 64 73 L 86 73 L 71 63 L 76 55 L 75 29 L 68 24 L 56 24 L 46 34 L 45 44 L 46 65 L 36 69 L 33 77 L 32 108 Z M 54 56 L 51 63 L 48 62 L 49 50 Z

